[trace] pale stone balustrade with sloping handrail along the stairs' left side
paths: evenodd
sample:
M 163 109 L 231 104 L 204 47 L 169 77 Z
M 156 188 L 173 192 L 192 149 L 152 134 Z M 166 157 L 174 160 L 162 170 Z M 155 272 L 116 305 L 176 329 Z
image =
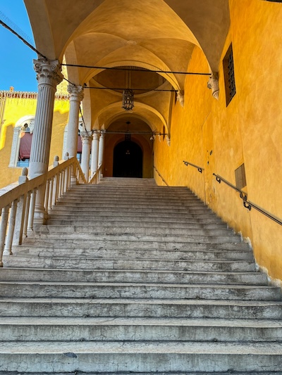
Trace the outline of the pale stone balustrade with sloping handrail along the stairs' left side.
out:
M 87 184 L 78 160 L 73 157 L 59 163 L 56 157 L 54 167 L 47 173 L 33 179 L 27 179 L 27 169 L 19 179 L 19 185 L 0 196 L 0 267 L 3 267 L 3 255 L 12 254 L 12 246 L 20 245 L 27 231 L 33 230 L 35 200 L 37 191 L 43 190 L 44 211 L 49 210 L 71 187 L 71 182 Z M 44 214 L 45 215 L 45 214 Z

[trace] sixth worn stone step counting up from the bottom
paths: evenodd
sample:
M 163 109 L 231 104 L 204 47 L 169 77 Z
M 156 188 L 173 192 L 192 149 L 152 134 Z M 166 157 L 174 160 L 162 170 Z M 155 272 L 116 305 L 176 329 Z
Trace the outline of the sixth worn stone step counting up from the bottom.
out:
M 66 257 L 31 257 L 6 255 L 4 267 L 70 268 L 70 269 L 163 269 L 194 272 L 255 272 L 255 262 L 247 260 L 156 260 L 156 259 L 101 259 Z

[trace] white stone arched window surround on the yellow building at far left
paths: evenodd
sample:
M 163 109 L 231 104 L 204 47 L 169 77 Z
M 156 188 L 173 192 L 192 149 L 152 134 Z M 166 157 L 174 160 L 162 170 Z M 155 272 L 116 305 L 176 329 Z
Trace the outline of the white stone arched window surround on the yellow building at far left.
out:
M 27 125 L 27 126 L 26 126 Z M 35 126 L 35 115 L 25 115 L 20 117 L 13 128 L 13 141 L 11 147 L 10 163 L 8 167 L 17 167 L 18 155 L 20 152 L 20 136 L 22 132 L 25 132 L 27 127 L 29 128 L 30 134 L 33 132 Z

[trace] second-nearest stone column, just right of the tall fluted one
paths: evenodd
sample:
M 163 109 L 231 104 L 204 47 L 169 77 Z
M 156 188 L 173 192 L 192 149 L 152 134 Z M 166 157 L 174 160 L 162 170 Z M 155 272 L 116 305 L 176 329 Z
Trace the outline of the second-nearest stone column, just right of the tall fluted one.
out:
M 68 138 L 66 151 L 69 158 L 76 157 L 78 153 L 78 121 L 80 112 L 80 101 L 83 99 L 82 86 L 68 85 L 68 93 L 70 94 L 70 113 L 68 115 Z

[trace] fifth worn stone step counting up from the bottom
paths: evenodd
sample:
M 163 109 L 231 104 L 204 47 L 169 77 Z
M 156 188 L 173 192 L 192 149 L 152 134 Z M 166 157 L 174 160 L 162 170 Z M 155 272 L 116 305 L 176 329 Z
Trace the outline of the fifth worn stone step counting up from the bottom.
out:
M 171 284 L 267 285 L 261 272 L 196 272 L 126 269 L 29 269 L 1 268 L 1 281 L 73 281 Z

